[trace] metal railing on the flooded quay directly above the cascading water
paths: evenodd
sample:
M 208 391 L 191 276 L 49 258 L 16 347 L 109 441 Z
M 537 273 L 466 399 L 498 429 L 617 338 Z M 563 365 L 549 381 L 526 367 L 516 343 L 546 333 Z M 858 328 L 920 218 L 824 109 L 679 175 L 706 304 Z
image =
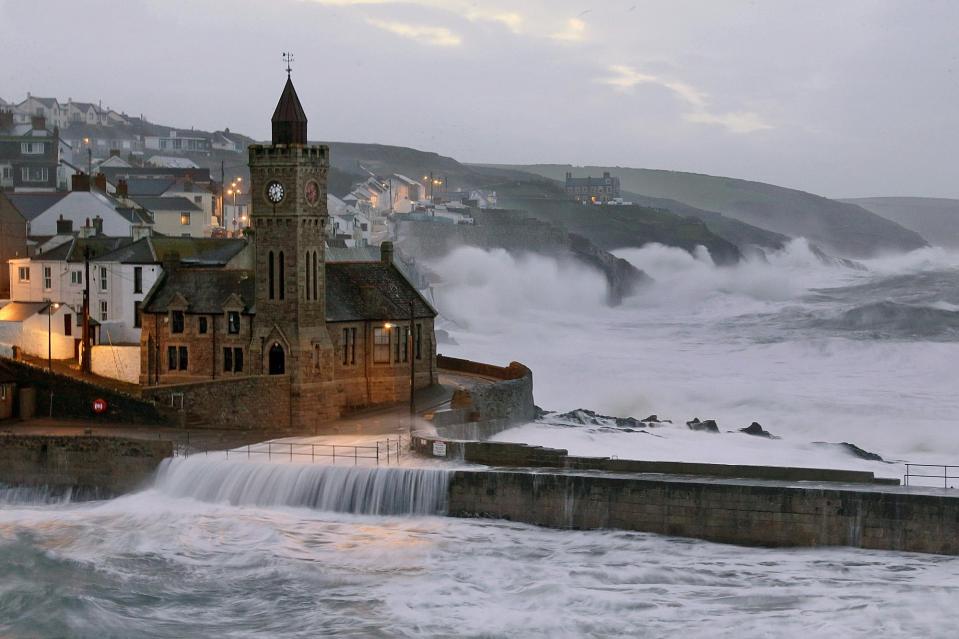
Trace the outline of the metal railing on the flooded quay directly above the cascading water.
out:
M 191 448 L 189 442 L 186 445 L 177 443 L 174 446 L 173 455 L 175 457 L 186 457 L 189 455 L 203 454 L 209 456 L 212 454 L 223 453 L 226 459 L 231 457 L 252 459 L 257 456 L 265 456 L 268 460 L 273 459 L 293 461 L 294 458 L 309 457 L 311 463 L 316 463 L 324 459 L 329 459 L 331 463 L 336 464 L 336 460 L 352 460 L 353 465 L 359 465 L 360 461 L 371 460 L 377 466 L 382 464 L 397 464 L 400 461 L 400 451 L 403 449 L 403 436 L 397 435 L 387 437 L 385 440 L 376 440 L 369 444 L 318 444 L 314 442 L 261 442 L 258 444 L 247 444 L 238 448 L 228 448 L 226 450 L 198 450 Z

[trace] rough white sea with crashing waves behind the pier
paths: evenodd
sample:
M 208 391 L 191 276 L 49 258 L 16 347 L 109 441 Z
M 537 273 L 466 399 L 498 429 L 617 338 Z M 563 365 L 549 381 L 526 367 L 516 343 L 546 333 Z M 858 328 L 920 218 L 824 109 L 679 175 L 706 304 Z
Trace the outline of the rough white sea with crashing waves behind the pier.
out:
M 617 254 L 655 278 L 617 308 L 601 303 L 598 273 L 541 257 L 461 249 L 436 266 L 457 341 L 444 352 L 526 363 L 546 410 L 672 420 L 625 432 L 554 416 L 500 439 L 889 477 L 906 461 L 959 464 L 959 253 L 851 267 L 798 240 L 733 268 L 663 246 Z M 694 417 L 723 432 L 690 431 Z M 735 432 L 754 421 L 779 439 Z M 892 463 L 860 459 L 843 442 Z

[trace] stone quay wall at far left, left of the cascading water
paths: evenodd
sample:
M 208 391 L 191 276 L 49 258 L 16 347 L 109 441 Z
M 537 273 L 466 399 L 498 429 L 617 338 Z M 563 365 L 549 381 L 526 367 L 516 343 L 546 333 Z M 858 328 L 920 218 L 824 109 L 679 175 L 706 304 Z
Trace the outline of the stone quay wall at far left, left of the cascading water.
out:
M 143 486 L 172 453 L 168 441 L 0 434 L 0 484 L 113 497 Z

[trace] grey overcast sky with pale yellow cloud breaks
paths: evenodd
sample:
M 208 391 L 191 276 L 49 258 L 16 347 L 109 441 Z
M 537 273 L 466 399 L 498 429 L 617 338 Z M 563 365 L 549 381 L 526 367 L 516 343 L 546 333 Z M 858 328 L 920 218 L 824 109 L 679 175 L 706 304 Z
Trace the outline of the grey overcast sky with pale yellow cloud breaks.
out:
M 959 197 L 954 0 L 0 0 L 0 97 L 461 161 Z

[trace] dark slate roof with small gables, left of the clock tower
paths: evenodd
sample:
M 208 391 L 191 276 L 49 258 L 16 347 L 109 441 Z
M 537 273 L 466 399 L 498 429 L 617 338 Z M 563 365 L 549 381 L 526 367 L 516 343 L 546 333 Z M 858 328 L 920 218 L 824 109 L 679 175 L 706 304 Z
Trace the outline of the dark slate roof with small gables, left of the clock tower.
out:
M 222 313 L 223 303 L 236 294 L 243 300 L 244 313 L 253 307 L 253 271 L 238 269 L 180 268 L 164 271 L 143 304 L 146 313 L 165 313 L 182 295 L 188 313 Z

